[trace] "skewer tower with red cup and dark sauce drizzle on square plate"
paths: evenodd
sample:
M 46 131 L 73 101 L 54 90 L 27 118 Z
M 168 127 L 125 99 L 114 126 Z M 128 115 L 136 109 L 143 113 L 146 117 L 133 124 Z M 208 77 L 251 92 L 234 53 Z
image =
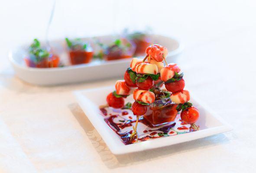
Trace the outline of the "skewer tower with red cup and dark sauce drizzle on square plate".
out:
M 189 102 L 190 94 L 184 90 L 185 81 L 178 65 L 166 63 L 167 52 L 161 45 L 151 45 L 146 48 L 144 59 L 133 58 L 124 80 L 117 80 L 116 90 L 108 94 L 107 105 L 100 106 L 107 116 L 105 122 L 124 144 L 199 130 L 195 125 L 199 111 Z M 125 104 L 130 94 L 134 103 Z M 115 115 L 120 111 L 121 117 Z M 140 134 L 138 123 L 146 127 Z

